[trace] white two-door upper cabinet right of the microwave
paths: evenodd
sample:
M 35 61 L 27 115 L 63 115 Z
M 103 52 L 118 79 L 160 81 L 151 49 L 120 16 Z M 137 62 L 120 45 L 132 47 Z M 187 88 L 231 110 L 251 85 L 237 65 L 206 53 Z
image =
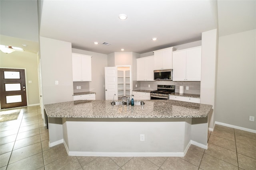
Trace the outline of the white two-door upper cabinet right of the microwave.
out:
M 173 52 L 173 81 L 201 81 L 202 46 Z

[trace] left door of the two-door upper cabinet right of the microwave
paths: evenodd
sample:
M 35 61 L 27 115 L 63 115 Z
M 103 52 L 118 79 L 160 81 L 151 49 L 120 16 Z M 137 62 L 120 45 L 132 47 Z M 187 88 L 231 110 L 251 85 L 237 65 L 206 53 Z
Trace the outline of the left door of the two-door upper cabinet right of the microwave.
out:
M 186 81 L 186 51 L 173 53 L 172 81 Z

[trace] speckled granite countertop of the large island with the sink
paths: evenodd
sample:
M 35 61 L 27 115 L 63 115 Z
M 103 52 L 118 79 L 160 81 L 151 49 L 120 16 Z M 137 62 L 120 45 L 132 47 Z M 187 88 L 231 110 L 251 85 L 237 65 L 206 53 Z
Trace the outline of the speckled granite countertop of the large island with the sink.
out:
M 44 105 L 48 117 L 184 118 L 207 117 L 212 105 L 176 100 L 143 100 L 144 106 L 111 105 L 112 100 L 77 100 Z

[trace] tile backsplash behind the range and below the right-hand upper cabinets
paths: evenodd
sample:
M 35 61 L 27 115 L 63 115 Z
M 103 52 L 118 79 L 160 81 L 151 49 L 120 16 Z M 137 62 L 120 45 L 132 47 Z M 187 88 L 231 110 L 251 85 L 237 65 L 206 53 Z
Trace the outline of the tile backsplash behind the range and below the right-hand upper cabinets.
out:
M 137 84 L 137 87 L 136 87 L 136 84 Z M 158 84 L 175 85 L 175 92 L 177 92 L 177 93 L 180 91 L 180 86 L 184 86 L 184 93 L 200 94 L 200 82 L 173 82 L 173 81 L 143 82 L 143 81 L 133 81 L 133 90 L 157 90 L 157 85 Z M 186 86 L 188 86 L 189 90 L 186 90 Z

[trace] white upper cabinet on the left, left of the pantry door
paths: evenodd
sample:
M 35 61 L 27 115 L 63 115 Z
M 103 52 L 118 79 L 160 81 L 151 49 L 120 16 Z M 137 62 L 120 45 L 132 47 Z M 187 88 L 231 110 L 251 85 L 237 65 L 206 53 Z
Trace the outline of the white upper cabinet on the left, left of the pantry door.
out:
M 92 81 L 92 56 L 72 53 L 73 82 Z

